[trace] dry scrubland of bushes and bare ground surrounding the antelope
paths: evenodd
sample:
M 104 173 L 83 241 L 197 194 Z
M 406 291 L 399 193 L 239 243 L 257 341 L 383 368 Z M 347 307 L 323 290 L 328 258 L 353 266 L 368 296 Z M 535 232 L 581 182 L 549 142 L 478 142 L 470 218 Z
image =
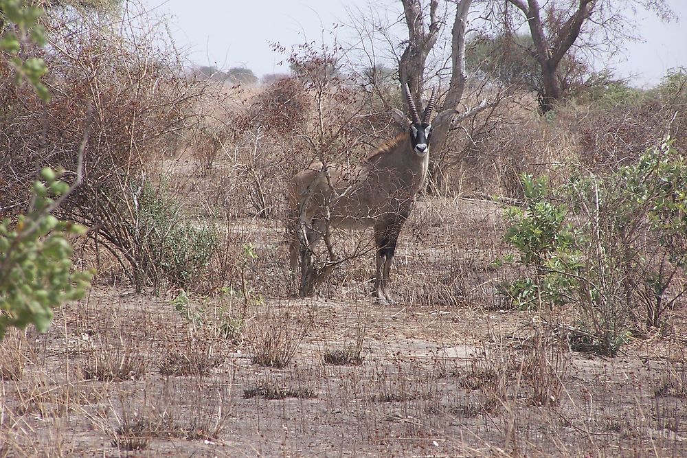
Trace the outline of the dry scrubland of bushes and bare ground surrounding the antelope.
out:
M 236 84 L 140 21 L 53 5 L 49 100 L 0 61 L 0 457 L 687 455 L 685 69 L 542 113 L 469 41 L 379 306 L 365 232 L 297 298 L 286 190 L 401 132 L 396 71 Z

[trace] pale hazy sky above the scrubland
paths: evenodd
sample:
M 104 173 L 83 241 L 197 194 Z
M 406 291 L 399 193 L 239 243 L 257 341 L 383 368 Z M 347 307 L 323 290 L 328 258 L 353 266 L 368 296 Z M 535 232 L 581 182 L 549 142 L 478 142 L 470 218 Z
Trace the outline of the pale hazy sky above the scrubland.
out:
M 626 55 L 611 62 L 616 75 L 636 75 L 631 80 L 635 86 L 659 82 L 672 67 L 687 67 L 687 0 L 668 3 L 679 20 L 666 24 L 649 14 L 636 18 L 645 43 L 629 43 Z M 347 8 L 377 8 L 392 19 L 401 12 L 400 0 L 142 0 L 142 4 L 154 14 L 170 16 L 172 37 L 192 62 L 219 69 L 248 67 L 258 77 L 288 71 L 277 65 L 284 56 L 273 52 L 269 42 L 288 49 L 304 41 L 332 43 L 332 34 L 345 41 L 352 35 L 341 27 L 342 22 L 350 22 Z

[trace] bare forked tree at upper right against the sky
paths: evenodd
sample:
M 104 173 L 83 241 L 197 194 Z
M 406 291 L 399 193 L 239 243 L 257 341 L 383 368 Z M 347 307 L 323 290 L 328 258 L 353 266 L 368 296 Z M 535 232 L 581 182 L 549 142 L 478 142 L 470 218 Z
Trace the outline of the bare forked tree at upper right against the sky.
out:
M 627 16 L 630 12 L 651 10 L 664 21 L 673 16 L 666 0 L 547 1 L 543 5 L 539 0 L 491 0 L 491 5 L 494 16 L 502 18 L 500 25 L 507 36 L 517 30 L 513 22 L 518 17 L 528 25 L 532 36 L 528 53 L 541 67 L 542 113 L 552 110 L 565 95 L 560 65 L 576 43 L 585 51 L 618 51 L 624 41 L 635 38 Z

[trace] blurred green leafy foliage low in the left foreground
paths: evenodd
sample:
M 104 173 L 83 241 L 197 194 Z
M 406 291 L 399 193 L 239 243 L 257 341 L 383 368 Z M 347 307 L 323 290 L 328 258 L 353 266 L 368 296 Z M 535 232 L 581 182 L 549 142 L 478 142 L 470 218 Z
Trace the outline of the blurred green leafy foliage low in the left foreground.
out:
M 92 271 L 72 272 L 69 239 L 86 228 L 52 215 L 69 185 L 49 168 L 41 176 L 27 214 L 0 223 L 0 338 L 10 326 L 33 324 L 45 332 L 52 308 L 81 299 L 93 277 Z

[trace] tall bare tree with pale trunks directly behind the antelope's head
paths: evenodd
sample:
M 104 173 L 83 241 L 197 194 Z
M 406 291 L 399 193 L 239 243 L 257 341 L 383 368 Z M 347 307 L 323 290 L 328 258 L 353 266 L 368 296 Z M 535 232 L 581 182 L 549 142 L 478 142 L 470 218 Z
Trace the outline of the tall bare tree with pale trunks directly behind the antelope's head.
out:
M 358 47 L 359 56 L 368 64 L 368 67 L 357 70 L 361 75 L 363 90 L 370 98 L 381 100 L 385 111 L 393 105 L 394 99 L 390 94 L 398 92 L 385 91 L 381 82 L 383 78 L 376 78 L 378 75 L 374 72 L 374 78 L 370 78 L 367 75 L 369 68 L 376 68 L 381 62 L 388 67 L 397 66 L 399 80 L 402 84 L 407 82 L 416 100 L 423 100 L 423 96 L 427 95 L 424 88 L 429 80 L 438 78 L 443 82 L 444 87 L 440 87 L 438 102 L 441 109 L 431 123 L 433 154 L 429 160 L 428 183 L 429 191 L 433 192 L 442 188 L 442 170 L 446 167 L 440 165 L 440 158 L 444 157 L 442 150 L 445 149 L 449 133 L 458 127 L 460 119 L 474 115 L 491 104 L 485 102 L 474 108 L 459 107 L 460 102 L 464 100 L 467 80 L 465 35 L 473 1 L 401 0 L 400 3 L 403 11 L 395 23 L 385 22 L 374 10 L 352 12 L 352 28 L 357 30 L 358 36 L 357 43 L 351 47 Z M 450 39 L 448 24 L 452 24 Z M 450 49 L 448 55 L 442 49 L 445 44 L 450 44 L 446 46 Z M 397 53 L 396 50 L 399 48 Z M 351 64 L 355 66 L 359 65 L 359 62 L 360 60 Z M 446 76 L 450 76 L 448 87 Z M 397 104 L 398 99 L 395 102 Z M 397 121 L 405 122 L 403 111 L 392 111 Z

